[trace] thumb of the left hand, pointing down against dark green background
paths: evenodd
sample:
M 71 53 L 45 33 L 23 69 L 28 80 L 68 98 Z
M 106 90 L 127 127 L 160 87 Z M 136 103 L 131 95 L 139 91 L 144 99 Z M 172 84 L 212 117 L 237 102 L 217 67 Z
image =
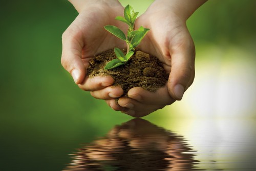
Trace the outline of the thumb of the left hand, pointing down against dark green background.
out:
M 83 41 L 82 36 L 68 30 L 62 35 L 61 64 L 71 74 L 76 84 L 82 83 L 86 76 L 86 69 L 81 59 Z

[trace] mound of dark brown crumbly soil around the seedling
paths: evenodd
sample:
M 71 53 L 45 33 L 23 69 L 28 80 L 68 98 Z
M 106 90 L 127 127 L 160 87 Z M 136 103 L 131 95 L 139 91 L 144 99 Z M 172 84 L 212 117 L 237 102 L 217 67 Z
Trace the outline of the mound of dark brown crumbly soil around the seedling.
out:
M 124 53 L 125 50 L 123 50 Z M 111 76 L 115 85 L 120 85 L 124 91 L 124 96 L 133 87 L 142 87 L 148 91 L 156 91 L 165 86 L 169 74 L 163 69 L 162 63 L 158 58 L 136 50 L 125 65 L 105 70 L 104 67 L 109 61 L 116 59 L 114 50 L 108 50 L 98 54 L 91 59 L 87 68 L 87 75 L 92 78 L 95 76 Z

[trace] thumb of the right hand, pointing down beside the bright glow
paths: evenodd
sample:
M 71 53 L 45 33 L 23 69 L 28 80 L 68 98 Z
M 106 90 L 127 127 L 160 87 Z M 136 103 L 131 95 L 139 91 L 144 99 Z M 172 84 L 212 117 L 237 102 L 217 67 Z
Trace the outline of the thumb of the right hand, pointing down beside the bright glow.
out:
M 190 41 L 188 41 L 188 40 Z M 184 91 L 193 83 L 195 77 L 195 45 L 186 38 L 178 47 L 170 47 L 172 68 L 168 80 L 168 91 L 175 100 L 181 100 Z

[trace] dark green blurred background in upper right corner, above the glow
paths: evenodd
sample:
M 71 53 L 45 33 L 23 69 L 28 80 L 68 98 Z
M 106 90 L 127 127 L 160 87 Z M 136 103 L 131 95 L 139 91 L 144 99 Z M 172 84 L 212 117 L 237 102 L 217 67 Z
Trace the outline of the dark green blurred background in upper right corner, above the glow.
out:
M 248 51 L 256 40 L 256 8 L 253 0 L 208 1 L 187 21 L 195 44 L 236 44 Z

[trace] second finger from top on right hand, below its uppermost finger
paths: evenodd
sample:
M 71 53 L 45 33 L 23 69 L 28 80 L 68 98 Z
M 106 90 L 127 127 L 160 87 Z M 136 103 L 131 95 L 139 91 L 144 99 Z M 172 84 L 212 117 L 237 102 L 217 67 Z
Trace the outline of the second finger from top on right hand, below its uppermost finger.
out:
M 121 97 L 118 100 L 118 104 L 122 107 L 128 108 L 128 109 L 132 109 L 135 110 L 137 112 L 139 111 L 153 111 L 153 110 L 158 110 L 158 109 L 162 109 L 165 105 L 145 105 L 141 102 L 138 102 L 134 99 L 131 98 L 125 98 L 125 97 Z

